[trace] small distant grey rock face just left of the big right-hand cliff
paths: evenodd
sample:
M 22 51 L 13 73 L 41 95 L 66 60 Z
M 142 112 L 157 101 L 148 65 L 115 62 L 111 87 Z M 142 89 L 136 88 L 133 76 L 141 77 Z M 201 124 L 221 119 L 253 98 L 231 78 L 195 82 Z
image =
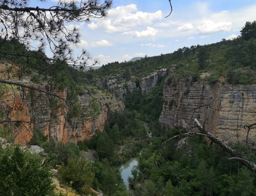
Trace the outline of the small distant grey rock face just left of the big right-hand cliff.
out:
M 152 73 L 151 75 L 148 75 L 147 77 L 141 77 L 139 79 L 139 85 L 141 87 L 141 91 L 148 93 L 150 90 L 155 87 L 159 81 L 159 77 L 165 77 L 168 75 L 167 69 L 161 69 L 157 72 Z

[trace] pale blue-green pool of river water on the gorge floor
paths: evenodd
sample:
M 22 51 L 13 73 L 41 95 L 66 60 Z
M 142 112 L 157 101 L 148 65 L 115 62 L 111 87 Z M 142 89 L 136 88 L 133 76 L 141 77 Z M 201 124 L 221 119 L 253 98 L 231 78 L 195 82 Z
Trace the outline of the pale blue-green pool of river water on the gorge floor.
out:
M 130 158 L 128 161 L 126 161 L 124 164 L 121 164 L 120 170 L 121 170 L 121 177 L 124 180 L 124 183 L 127 186 L 127 189 L 129 189 L 129 182 L 128 177 L 132 177 L 131 171 L 133 166 L 137 166 L 138 161 L 137 158 Z

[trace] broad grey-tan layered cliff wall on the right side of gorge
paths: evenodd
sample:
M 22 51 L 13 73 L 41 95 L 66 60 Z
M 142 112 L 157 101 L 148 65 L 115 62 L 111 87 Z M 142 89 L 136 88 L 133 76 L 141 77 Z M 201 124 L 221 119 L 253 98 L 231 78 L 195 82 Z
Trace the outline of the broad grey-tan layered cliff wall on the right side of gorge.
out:
M 169 85 L 168 85 L 169 84 Z M 256 122 L 256 85 L 221 85 L 173 79 L 165 81 L 163 111 L 159 118 L 162 126 L 193 126 L 193 119 L 224 141 L 246 142 L 247 126 Z M 194 108 L 205 104 L 194 112 Z M 193 117 L 192 117 L 193 115 Z M 191 120 L 192 119 L 192 120 Z M 256 126 L 248 135 L 248 143 L 256 142 Z

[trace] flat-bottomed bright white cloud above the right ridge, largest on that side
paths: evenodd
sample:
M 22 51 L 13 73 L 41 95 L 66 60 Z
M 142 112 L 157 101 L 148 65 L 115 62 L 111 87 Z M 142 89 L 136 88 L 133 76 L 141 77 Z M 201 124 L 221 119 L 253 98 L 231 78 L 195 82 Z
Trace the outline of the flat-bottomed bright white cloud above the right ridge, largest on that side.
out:
M 213 33 L 220 31 L 230 31 L 232 23 L 231 22 L 218 22 L 215 23 L 211 20 L 205 20 L 201 26 L 197 28 L 198 33 Z

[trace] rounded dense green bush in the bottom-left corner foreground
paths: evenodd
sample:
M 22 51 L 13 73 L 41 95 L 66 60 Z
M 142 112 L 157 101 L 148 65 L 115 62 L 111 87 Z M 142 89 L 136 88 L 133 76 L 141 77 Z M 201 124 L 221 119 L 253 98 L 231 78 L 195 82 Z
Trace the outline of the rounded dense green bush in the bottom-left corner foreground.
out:
M 50 168 L 19 147 L 0 149 L 0 195 L 54 195 Z

